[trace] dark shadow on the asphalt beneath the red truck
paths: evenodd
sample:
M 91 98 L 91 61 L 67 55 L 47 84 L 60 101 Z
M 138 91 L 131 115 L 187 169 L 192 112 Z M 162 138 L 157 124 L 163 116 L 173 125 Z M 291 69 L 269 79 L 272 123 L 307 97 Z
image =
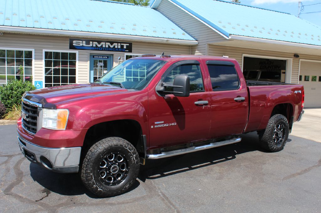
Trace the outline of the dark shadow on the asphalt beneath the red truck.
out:
M 221 146 L 160 160 L 147 159 L 146 165 L 141 166 L 138 179 L 145 182 L 146 179 L 157 179 L 230 161 L 236 159 L 237 155 L 242 153 L 253 151 L 266 152 L 259 146 L 256 132 L 244 134 L 241 137 L 242 141 L 237 144 Z M 291 141 L 291 139 L 289 139 L 289 141 Z M 54 193 L 69 196 L 86 194 L 91 198 L 99 198 L 90 193 L 82 185 L 78 173 L 55 173 L 36 164 L 30 163 L 30 175 L 34 181 Z M 129 191 L 136 189 L 139 185 L 140 182 L 136 180 Z

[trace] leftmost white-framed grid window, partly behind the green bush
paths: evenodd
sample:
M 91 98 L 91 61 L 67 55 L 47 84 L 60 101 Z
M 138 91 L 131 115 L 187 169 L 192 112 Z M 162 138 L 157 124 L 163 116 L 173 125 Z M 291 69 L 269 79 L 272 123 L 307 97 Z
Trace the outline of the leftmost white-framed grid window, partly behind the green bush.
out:
M 19 67 L 24 70 L 25 81 L 32 76 L 32 51 L 31 50 L 4 50 L 0 49 L 0 86 L 9 80 L 20 79 Z

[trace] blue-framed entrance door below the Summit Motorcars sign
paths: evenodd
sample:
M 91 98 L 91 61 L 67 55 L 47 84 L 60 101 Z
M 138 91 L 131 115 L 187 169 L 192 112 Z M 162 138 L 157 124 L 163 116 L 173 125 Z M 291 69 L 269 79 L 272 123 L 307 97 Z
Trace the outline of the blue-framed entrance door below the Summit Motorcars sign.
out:
M 90 83 L 99 79 L 101 76 L 111 70 L 111 55 L 90 55 Z

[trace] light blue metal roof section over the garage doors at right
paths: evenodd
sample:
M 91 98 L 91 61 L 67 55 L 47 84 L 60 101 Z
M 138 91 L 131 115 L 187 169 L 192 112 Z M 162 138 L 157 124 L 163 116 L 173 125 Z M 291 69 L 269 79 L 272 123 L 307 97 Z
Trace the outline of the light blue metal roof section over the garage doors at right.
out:
M 321 46 L 321 27 L 294 15 L 220 0 L 171 0 L 221 34 Z

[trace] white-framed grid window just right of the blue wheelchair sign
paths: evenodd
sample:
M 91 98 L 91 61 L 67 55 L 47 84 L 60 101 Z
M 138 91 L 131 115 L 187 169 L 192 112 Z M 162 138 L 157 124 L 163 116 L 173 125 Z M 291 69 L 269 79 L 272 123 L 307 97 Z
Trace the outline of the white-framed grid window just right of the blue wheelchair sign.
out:
M 76 83 L 76 52 L 45 51 L 45 87 Z

